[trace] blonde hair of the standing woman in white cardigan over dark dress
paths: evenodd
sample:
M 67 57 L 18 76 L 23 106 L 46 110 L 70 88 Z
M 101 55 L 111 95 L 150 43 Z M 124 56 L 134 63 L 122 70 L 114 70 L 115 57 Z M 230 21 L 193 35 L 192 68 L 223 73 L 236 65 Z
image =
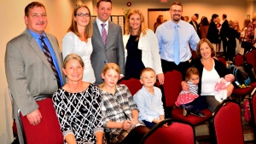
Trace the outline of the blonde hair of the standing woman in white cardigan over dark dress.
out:
M 143 33 L 143 36 L 146 35 L 146 33 L 147 33 L 146 31 L 148 28 L 145 24 L 145 19 L 144 19 L 143 13 L 141 11 L 139 11 L 138 9 L 134 9 L 134 10 L 131 10 L 131 12 L 128 14 L 128 16 L 125 19 L 125 35 L 131 34 L 132 29 L 131 29 L 129 20 L 130 20 L 132 14 L 139 14 L 141 17 L 141 26 L 138 30 L 137 38 L 136 38 L 136 41 L 138 41 L 141 33 Z

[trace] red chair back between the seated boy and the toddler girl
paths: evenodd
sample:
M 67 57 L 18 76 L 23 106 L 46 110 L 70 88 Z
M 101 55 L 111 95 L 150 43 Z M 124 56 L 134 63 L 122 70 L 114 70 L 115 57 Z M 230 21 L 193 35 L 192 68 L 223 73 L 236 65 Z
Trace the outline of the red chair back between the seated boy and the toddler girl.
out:
M 172 72 L 165 73 L 165 83 L 163 84 L 163 95 L 165 98 L 165 107 L 170 108 L 175 106 L 175 101 L 177 101 L 177 96 L 181 92 L 181 82 L 182 82 L 182 74 L 176 70 Z M 163 102 L 164 102 L 163 101 Z

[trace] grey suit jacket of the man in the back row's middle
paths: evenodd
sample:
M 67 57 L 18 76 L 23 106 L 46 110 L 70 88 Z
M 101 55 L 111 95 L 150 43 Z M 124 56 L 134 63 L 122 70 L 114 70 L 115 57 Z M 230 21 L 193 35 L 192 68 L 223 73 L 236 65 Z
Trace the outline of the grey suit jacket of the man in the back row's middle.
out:
M 111 21 L 108 22 L 108 37 L 107 43 L 104 46 L 101 32 L 95 20 L 93 22 L 91 43 L 93 50 L 90 55 L 90 60 L 95 73 L 96 84 L 102 84 L 102 68 L 107 63 L 116 63 L 120 67 L 120 73 L 125 74 L 125 51 L 121 26 Z

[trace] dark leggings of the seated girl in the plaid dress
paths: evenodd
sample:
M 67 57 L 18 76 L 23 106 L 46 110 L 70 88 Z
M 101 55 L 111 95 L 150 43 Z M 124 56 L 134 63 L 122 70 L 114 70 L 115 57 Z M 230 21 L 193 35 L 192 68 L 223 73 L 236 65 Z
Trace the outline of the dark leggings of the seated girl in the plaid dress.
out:
M 146 126 L 137 126 L 125 137 L 120 144 L 140 144 L 143 140 L 143 136 L 148 133 L 150 129 Z

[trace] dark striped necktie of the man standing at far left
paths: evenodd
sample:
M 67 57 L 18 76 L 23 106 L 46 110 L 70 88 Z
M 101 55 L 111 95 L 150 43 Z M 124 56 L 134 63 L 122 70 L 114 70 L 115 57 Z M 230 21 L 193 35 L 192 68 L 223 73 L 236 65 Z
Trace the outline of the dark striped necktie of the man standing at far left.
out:
M 48 49 L 47 45 L 44 42 L 44 36 L 43 35 L 40 36 L 40 40 L 42 42 L 44 55 L 46 56 L 46 59 L 49 62 L 49 66 L 51 67 L 52 71 L 55 74 L 55 78 L 57 78 L 58 88 L 61 88 L 61 81 L 60 81 L 59 74 L 58 74 L 58 72 L 56 70 L 56 67 L 55 67 L 55 64 L 54 64 L 54 62 L 52 60 L 52 57 L 51 57 L 50 52 L 49 52 L 49 49 Z

